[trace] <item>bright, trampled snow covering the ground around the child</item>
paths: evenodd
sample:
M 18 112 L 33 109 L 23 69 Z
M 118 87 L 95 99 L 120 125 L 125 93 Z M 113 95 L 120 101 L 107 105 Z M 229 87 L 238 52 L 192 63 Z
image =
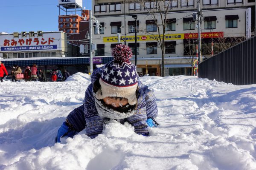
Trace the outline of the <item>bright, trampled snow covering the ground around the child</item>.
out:
M 256 85 L 189 76 L 142 77 L 157 97 L 150 136 L 111 121 L 55 144 L 81 105 L 87 74 L 67 82 L 0 83 L 0 170 L 255 170 Z

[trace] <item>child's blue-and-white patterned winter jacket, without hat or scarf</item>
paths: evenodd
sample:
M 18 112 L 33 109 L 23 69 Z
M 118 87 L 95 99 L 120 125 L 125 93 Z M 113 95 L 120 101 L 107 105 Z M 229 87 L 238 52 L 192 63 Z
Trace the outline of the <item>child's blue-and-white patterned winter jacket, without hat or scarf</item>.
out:
M 80 132 L 85 128 L 87 136 L 90 136 L 91 138 L 102 133 L 103 122 L 108 120 L 108 118 L 103 118 L 98 115 L 93 96 L 93 83 L 96 79 L 100 78 L 103 68 L 104 66 L 93 71 L 91 76 L 92 82 L 85 92 L 83 105 L 73 110 L 67 116 L 68 122 L 77 132 Z M 127 121 L 134 126 L 135 133 L 148 136 L 148 125 L 146 120 L 150 117 L 156 117 L 157 114 L 158 111 L 154 93 L 139 80 L 137 112 L 126 119 L 119 119 L 119 122 L 124 123 Z

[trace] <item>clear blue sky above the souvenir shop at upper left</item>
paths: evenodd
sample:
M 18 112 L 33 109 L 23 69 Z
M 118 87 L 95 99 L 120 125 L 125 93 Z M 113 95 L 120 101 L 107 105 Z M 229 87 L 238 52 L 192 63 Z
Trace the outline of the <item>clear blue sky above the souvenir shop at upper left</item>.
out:
M 58 0 L 1 0 L 0 32 L 58 31 L 57 5 Z M 91 0 L 83 5 L 91 9 Z

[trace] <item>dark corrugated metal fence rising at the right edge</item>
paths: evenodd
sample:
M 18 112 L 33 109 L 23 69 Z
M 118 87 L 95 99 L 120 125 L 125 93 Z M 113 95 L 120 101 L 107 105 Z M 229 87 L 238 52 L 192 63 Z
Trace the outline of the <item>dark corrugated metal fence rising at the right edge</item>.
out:
M 256 36 L 201 62 L 198 77 L 234 85 L 256 84 Z

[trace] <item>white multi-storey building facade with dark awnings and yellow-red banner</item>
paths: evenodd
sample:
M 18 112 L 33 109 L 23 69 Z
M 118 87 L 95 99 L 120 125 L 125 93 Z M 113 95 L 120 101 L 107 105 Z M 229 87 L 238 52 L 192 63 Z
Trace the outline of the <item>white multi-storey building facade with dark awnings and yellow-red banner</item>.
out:
M 197 21 L 193 13 L 197 11 L 197 0 L 161 1 L 169 4 L 165 28 L 165 76 L 191 75 L 192 63 L 196 58 L 195 45 L 198 44 Z M 95 56 L 111 55 L 111 48 L 118 43 L 130 46 L 135 53 L 135 20 L 137 16 L 137 71 L 149 75 L 160 75 L 161 49 L 154 35 L 158 35 L 157 24 L 161 15 L 155 9 L 155 2 L 94 0 L 93 15 L 102 29 L 95 28 L 93 43 L 97 44 Z M 251 28 L 255 28 L 254 0 L 201 0 L 202 55 L 212 55 L 219 46 L 230 40 L 243 40 L 247 28 L 247 8 L 251 10 Z M 154 16 L 151 11 L 154 11 Z M 155 18 L 153 18 L 155 17 Z M 162 32 L 160 28 L 160 32 Z M 251 30 L 250 30 L 251 31 Z M 126 39 L 125 39 L 126 37 Z M 217 41 L 216 41 L 217 40 Z M 134 57 L 132 59 L 134 62 Z

